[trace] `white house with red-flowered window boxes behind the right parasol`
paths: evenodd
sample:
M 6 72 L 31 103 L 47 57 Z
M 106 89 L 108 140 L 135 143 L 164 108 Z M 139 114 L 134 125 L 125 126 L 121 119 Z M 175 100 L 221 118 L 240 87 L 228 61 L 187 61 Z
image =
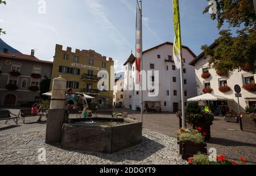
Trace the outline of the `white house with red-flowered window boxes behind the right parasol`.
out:
M 214 47 L 216 47 L 214 44 L 210 46 L 211 49 L 214 49 Z M 244 70 L 241 70 L 241 72 L 236 70 L 230 77 L 218 76 L 215 69 L 209 69 L 209 58 L 210 56 L 205 57 L 205 53 L 203 52 L 190 63 L 195 66 L 197 95 L 204 94 L 203 90 L 208 88 L 212 91 L 210 94 L 232 98 L 233 101 L 225 102 L 225 104 L 229 107 L 229 111 L 233 110 L 238 112 L 238 100 L 235 97 L 234 86 L 239 85 L 241 87 L 242 94 L 242 98 L 240 98 L 241 111 L 245 112 L 246 106 L 253 106 L 256 104 L 255 90 L 247 91 L 242 88 L 243 85 L 249 84 L 254 85 L 255 87 L 256 74 L 252 74 Z M 210 73 L 209 78 L 202 78 L 203 73 Z M 223 87 L 229 87 L 230 90 L 226 92 L 220 91 L 219 89 L 222 89 Z M 221 103 L 224 102 L 213 102 L 215 107 L 220 106 Z

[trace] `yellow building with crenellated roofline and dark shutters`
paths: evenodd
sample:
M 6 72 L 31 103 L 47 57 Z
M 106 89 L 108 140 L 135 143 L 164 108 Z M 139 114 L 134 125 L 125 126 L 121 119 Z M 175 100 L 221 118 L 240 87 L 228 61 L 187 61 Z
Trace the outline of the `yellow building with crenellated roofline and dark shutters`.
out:
M 67 80 L 67 88 L 72 88 L 74 93 L 80 92 L 94 97 L 99 108 L 112 108 L 113 84 L 110 70 L 113 66 L 112 58 L 107 60 L 105 56 L 93 50 L 76 49 L 74 53 L 72 48 L 67 47 L 67 51 L 64 51 L 62 45 L 56 44 L 52 79 L 61 75 Z M 106 74 L 99 73 L 102 71 L 108 72 L 109 90 L 105 83 L 102 83 L 100 90 L 98 89 L 101 77 L 106 78 Z M 88 100 L 88 103 L 92 103 L 91 100 Z

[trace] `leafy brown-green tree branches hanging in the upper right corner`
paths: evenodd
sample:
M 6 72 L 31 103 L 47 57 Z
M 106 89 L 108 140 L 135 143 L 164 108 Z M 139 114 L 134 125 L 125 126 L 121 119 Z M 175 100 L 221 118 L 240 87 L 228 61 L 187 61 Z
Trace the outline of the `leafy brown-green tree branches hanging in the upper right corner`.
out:
M 209 1 L 209 0 L 208 0 Z M 205 56 L 209 59 L 211 68 L 225 74 L 232 74 L 234 70 L 245 67 L 255 73 L 256 70 L 256 16 L 252 0 L 216 0 L 217 13 L 211 14 L 212 20 L 217 20 L 220 30 L 224 23 L 228 29 L 220 31 L 220 37 L 214 41 L 214 49 L 203 45 Z M 207 6 L 203 14 L 207 13 Z M 240 28 L 236 35 L 231 28 Z

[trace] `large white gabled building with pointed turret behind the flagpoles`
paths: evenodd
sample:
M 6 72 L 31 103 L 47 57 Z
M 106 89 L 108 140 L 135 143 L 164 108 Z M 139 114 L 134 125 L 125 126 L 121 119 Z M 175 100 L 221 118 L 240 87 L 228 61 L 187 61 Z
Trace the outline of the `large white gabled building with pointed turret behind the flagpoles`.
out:
M 153 81 L 155 86 L 159 86 L 159 94 L 156 97 L 150 97 L 148 95 L 157 94 L 154 89 L 143 91 L 143 108 L 147 104 L 150 108 L 161 108 L 163 111 L 176 112 L 181 109 L 180 70 L 175 67 L 172 47 L 173 43 L 166 42 L 143 52 L 143 70 L 146 72 L 159 71 L 159 79 L 155 75 L 150 77 L 150 81 Z M 189 65 L 189 62 L 195 57 L 191 49 L 183 46 L 185 100 L 196 96 L 195 68 Z M 132 88 L 138 87 L 133 84 L 136 80 L 134 55 L 127 59 L 124 66 L 125 107 L 130 108 L 131 106 L 133 110 L 136 110 L 141 106 L 141 95 L 139 89 L 132 90 Z M 131 75 L 129 71 L 132 72 Z M 159 80 L 158 85 L 157 79 Z M 187 102 L 185 102 L 185 106 L 187 106 Z

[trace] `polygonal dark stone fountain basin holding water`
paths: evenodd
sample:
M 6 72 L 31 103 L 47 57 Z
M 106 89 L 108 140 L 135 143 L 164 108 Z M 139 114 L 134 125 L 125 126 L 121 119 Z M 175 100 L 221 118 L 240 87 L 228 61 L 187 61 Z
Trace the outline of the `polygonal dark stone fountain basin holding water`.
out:
M 142 123 L 123 118 L 70 119 L 63 125 L 61 147 L 114 153 L 140 144 Z

